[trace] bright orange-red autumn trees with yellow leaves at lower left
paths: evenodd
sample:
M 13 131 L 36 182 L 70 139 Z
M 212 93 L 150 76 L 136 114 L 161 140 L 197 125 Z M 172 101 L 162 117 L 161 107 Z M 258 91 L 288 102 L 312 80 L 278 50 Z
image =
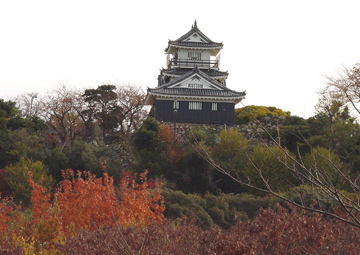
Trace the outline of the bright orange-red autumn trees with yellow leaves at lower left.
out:
M 149 189 L 147 173 L 123 178 L 117 187 L 113 178 L 88 172 L 63 172 L 64 180 L 54 194 L 29 178 L 31 207 L 21 211 L 11 200 L 0 203 L 0 247 L 21 246 L 29 251 L 55 251 L 55 244 L 78 234 L 109 225 L 141 227 L 160 223 L 165 209 L 161 183 Z M 120 199 L 118 199 L 120 197 Z M 29 213 L 30 210 L 30 213 Z M 1 251 L 1 250 L 0 250 Z

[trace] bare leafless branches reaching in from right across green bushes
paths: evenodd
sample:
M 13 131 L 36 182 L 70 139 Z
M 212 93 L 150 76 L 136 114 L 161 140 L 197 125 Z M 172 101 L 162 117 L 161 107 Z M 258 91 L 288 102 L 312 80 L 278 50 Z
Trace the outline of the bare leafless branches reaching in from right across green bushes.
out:
M 360 187 L 357 181 L 358 176 L 346 171 L 344 172 L 344 167 L 340 167 L 342 166 L 342 164 L 336 164 L 336 162 L 332 160 L 332 157 L 322 156 L 319 152 L 314 151 L 314 148 L 312 148 L 310 144 L 307 144 L 311 151 L 319 154 L 319 157 L 321 157 L 325 162 L 327 162 L 327 165 L 331 167 L 330 172 L 333 173 L 332 175 L 341 178 L 340 183 L 343 184 L 341 186 L 347 187 L 347 190 L 352 190 L 353 193 L 349 194 L 348 191 L 344 191 L 339 188 L 339 186 L 337 185 L 337 183 L 339 182 L 338 178 L 335 180 L 333 178 L 329 178 L 329 171 L 313 171 L 313 169 L 309 167 L 309 165 L 305 165 L 303 156 L 299 152 L 299 149 L 298 153 L 295 155 L 290 153 L 282 146 L 278 139 L 275 139 L 269 133 L 265 126 L 263 127 L 263 130 L 269 136 L 272 144 L 269 145 L 268 143 L 264 143 L 263 146 L 265 146 L 267 150 L 269 150 L 271 153 L 273 153 L 272 150 L 274 146 L 279 149 L 283 156 L 276 155 L 275 153 L 273 154 L 276 160 L 283 166 L 283 169 L 287 172 L 287 175 L 295 177 L 296 182 L 293 183 L 293 185 L 307 185 L 307 187 L 310 187 L 312 189 L 312 192 L 314 194 L 317 194 L 317 197 L 319 197 L 319 199 L 331 200 L 335 202 L 345 211 L 345 214 L 339 215 L 335 211 L 327 210 L 326 208 L 314 208 L 313 206 L 305 204 L 305 199 L 302 198 L 303 193 L 301 191 L 301 187 L 305 186 L 299 186 L 299 201 L 293 200 L 292 197 L 286 195 L 285 193 L 278 192 L 279 189 L 276 186 L 276 182 L 271 180 L 271 176 L 266 176 L 266 174 L 261 168 L 266 167 L 265 163 L 262 166 L 260 165 L 260 167 L 254 162 L 252 163 L 253 168 L 257 173 L 258 179 L 262 181 L 262 185 L 258 186 L 256 183 L 254 184 L 250 178 L 246 178 L 239 175 L 236 171 L 231 171 L 222 167 L 221 164 L 217 160 L 215 160 L 214 157 L 211 156 L 211 154 L 208 152 L 208 149 L 204 146 L 201 146 L 201 143 L 197 143 L 194 148 L 217 171 L 224 174 L 225 176 L 228 176 L 229 178 L 233 179 L 235 182 L 244 187 L 256 189 L 257 191 L 274 195 L 280 199 L 283 199 L 289 203 L 298 206 L 299 208 L 322 213 L 360 228 L 360 200 L 358 197 Z M 306 144 L 306 140 L 304 140 L 304 143 Z

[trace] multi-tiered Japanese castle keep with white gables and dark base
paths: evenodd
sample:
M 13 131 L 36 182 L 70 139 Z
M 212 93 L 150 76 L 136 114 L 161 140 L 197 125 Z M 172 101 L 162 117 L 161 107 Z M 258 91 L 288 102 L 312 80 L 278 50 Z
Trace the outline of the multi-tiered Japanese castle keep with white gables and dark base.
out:
M 169 40 L 166 68 L 158 86 L 148 88 L 146 104 L 158 121 L 201 124 L 234 124 L 235 104 L 245 92 L 227 88 L 228 72 L 219 70 L 223 43 L 211 41 L 197 27 L 179 39 Z

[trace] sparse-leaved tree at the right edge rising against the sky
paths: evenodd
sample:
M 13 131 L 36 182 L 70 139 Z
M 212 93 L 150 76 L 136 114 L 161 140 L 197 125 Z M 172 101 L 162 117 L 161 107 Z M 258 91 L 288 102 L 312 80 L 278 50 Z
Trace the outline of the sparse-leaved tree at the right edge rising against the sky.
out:
M 351 69 L 343 67 L 337 75 L 326 78 L 326 88 L 320 91 L 325 103 L 321 104 L 320 101 L 318 110 L 325 114 L 331 124 L 331 142 L 339 155 L 354 166 L 359 166 L 357 155 L 360 139 L 356 120 L 360 116 L 360 63 Z M 338 134 L 341 134 L 339 138 Z

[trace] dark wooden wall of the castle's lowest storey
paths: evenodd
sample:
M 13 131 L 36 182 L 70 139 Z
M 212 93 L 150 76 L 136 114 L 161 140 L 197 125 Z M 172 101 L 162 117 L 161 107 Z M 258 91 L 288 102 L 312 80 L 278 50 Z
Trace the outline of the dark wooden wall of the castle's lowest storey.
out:
M 234 103 L 217 103 L 217 111 L 211 110 L 211 102 L 203 102 L 202 110 L 189 110 L 189 102 L 179 101 L 179 109 L 174 112 L 173 100 L 155 102 L 155 118 L 158 121 L 197 124 L 234 125 Z

